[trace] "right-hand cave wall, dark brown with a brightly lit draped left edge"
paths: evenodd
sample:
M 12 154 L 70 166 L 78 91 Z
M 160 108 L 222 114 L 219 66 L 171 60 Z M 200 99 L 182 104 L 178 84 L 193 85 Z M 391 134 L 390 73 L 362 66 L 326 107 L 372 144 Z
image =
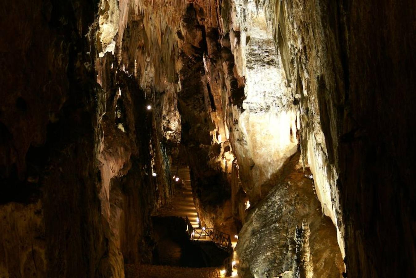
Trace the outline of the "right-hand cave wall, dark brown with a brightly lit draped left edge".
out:
M 272 1 L 266 8 L 300 95 L 304 162 L 337 226 L 347 275 L 411 276 L 413 3 Z

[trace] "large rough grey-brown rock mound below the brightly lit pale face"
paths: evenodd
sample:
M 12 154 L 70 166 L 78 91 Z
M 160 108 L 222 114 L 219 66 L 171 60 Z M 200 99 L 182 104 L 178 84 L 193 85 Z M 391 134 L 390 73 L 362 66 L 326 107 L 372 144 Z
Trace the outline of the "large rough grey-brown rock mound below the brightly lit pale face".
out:
M 236 247 L 241 277 L 342 277 L 335 227 L 322 215 L 312 180 L 295 165 L 298 158 L 249 209 Z

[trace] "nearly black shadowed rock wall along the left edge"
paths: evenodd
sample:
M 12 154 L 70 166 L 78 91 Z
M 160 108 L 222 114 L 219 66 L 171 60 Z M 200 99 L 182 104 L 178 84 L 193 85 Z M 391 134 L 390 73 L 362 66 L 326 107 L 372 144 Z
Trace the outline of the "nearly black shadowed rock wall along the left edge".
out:
M 83 51 L 94 10 L 75 1 L 1 9 L 2 277 L 104 273 L 95 88 Z

